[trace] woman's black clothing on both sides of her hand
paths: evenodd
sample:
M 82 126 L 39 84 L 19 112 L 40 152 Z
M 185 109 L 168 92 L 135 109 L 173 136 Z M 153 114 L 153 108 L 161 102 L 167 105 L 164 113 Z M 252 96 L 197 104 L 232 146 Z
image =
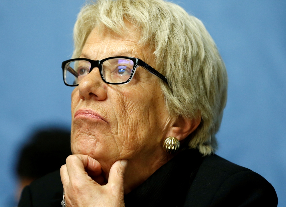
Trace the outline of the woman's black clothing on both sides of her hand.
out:
M 59 171 L 26 186 L 19 207 L 61 207 Z M 124 196 L 128 206 L 277 206 L 273 186 L 259 174 L 215 154 L 185 150 Z

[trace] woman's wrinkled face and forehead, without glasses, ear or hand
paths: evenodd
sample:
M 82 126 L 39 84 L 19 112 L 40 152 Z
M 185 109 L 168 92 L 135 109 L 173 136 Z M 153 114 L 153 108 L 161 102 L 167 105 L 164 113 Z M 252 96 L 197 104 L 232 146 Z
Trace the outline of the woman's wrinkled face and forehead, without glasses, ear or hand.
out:
M 139 35 L 130 25 L 127 30 L 119 37 L 96 27 L 80 57 L 137 57 L 154 67 L 153 51 L 138 44 Z M 129 167 L 136 167 L 136 163 L 150 166 L 160 160 L 162 140 L 171 118 L 159 81 L 138 67 L 130 83 L 108 85 L 102 81 L 98 68 L 94 68 L 72 92 L 73 154 L 98 160 L 107 174 L 119 159 L 128 159 Z

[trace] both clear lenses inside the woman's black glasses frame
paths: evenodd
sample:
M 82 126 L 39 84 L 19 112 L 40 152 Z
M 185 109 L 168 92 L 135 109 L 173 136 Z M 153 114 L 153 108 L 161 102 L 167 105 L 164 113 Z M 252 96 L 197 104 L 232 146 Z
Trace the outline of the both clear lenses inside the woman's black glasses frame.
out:
M 123 83 L 132 74 L 134 62 L 130 59 L 113 58 L 102 63 L 102 76 L 108 83 Z M 79 84 L 90 72 L 91 64 L 86 60 L 71 61 L 65 65 L 65 82 L 69 85 Z

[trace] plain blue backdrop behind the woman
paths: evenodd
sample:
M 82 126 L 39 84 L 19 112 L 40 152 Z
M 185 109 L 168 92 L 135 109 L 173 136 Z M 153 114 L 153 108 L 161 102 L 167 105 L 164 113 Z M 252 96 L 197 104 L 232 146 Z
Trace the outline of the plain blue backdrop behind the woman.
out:
M 218 154 L 265 177 L 286 206 L 286 1 L 174 1 L 202 20 L 229 75 Z M 37 126 L 69 127 L 77 1 L 0 1 L 0 206 L 10 206 L 19 146 Z

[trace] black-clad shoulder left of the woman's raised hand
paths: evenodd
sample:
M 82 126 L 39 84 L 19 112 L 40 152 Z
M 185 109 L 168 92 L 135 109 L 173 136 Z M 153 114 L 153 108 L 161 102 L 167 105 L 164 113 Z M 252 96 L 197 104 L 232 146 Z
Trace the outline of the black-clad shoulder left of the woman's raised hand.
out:
M 63 185 L 59 170 L 49 173 L 26 186 L 19 207 L 61 206 Z

